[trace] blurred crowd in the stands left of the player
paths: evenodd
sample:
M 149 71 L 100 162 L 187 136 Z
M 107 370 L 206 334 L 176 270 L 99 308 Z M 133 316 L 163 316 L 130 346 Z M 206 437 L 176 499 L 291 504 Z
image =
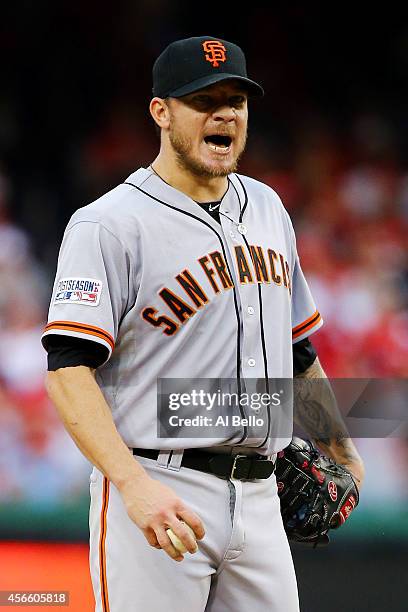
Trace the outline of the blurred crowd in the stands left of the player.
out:
M 89 469 L 46 397 L 40 336 L 50 279 L 10 218 L 11 194 L 0 176 L 0 506 L 48 510 L 83 493 Z

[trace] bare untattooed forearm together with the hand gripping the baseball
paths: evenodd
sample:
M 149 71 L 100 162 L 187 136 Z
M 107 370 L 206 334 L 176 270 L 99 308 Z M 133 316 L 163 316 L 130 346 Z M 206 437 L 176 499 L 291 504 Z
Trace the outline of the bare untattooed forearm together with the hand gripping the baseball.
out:
M 47 390 L 74 442 L 116 486 L 130 518 L 149 544 L 182 561 L 183 555 L 176 551 L 166 533 L 171 528 L 187 550 L 194 552 L 194 538 L 181 520 L 190 525 L 198 540 L 204 537 L 201 520 L 174 491 L 150 478 L 130 452 L 116 429 L 93 371 L 77 366 L 49 372 Z

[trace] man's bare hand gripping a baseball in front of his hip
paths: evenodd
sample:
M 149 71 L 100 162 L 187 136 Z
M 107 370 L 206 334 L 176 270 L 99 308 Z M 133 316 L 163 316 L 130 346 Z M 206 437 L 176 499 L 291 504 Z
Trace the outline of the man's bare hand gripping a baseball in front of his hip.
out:
M 182 561 L 183 555 L 174 548 L 166 533 L 171 528 L 190 553 L 196 552 L 196 542 L 181 521 L 190 525 L 197 540 L 204 537 L 204 525 L 170 487 L 144 475 L 123 484 L 119 492 L 129 517 L 142 530 L 150 546 L 163 549 L 175 561 Z

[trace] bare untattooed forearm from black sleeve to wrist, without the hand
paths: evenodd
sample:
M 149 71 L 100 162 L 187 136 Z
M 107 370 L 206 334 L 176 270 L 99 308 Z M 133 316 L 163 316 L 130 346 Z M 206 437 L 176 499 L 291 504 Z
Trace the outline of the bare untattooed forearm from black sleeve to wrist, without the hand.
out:
M 119 489 L 130 479 L 147 476 L 120 437 L 90 368 L 48 372 L 46 386 L 78 448 Z

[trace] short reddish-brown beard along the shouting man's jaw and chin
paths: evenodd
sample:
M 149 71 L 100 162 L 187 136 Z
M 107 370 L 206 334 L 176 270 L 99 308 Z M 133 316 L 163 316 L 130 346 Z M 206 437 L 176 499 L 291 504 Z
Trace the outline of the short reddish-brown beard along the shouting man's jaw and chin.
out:
M 176 152 L 177 163 L 180 168 L 183 170 L 188 170 L 196 176 L 207 178 L 228 176 L 228 174 L 231 174 L 231 172 L 237 171 L 238 161 L 245 150 L 246 136 L 247 135 L 245 134 L 241 150 L 239 151 L 235 160 L 233 160 L 229 166 L 214 168 L 212 165 L 206 164 L 200 159 L 194 158 L 192 155 L 190 155 L 192 148 L 191 140 L 178 132 L 173 125 L 170 127 L 169 133 L 170 144 Z

